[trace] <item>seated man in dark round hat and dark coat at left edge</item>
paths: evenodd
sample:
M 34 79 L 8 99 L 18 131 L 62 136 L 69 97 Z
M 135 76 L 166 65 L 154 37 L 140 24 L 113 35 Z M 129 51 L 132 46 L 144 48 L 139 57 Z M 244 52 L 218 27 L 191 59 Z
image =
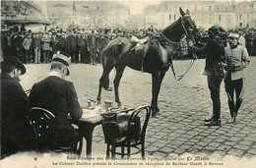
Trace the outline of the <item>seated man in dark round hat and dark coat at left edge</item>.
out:
M 1 158 L 17 151 L 32 149 L 34 135 L 27 118 L 28 97 L 20 82 L 26 68 L 17 57 L 1 63 Z

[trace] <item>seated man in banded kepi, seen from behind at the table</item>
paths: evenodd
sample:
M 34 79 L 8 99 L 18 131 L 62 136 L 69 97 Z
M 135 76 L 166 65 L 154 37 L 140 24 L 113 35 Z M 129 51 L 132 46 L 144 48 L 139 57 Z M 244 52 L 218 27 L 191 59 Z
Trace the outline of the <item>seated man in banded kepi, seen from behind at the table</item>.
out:
M 33 84 L 29 105 L 49 110 L 56 117 L 58 146 L 68 147 L 80 140 L 80 134 L 71 126 L 68 115 L 74 120 L 82 116 L 77 92 L 71 82 L 65 81 L 70 74 L 71 59 L 66 53 L 57 52 L 52 57 L 49 77 Z

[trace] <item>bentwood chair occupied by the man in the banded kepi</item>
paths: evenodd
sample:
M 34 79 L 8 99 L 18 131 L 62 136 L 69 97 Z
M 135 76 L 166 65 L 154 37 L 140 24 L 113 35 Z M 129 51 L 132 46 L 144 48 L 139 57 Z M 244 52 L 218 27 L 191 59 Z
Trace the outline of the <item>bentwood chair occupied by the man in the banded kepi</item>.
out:
M 56 129 L 56 117 L 50 111 L 40 108 L 32 107 L 29 119 L 33 127 L 36 148 L 38 151 L 55 151 L 55 152 L 70 152 L 73 151 L 77 154 L 81 154 L 83 140 L 81 138 L 78 146 L 78 142 L 72 146 L 62 147 L 58 146 L 58 136 Z

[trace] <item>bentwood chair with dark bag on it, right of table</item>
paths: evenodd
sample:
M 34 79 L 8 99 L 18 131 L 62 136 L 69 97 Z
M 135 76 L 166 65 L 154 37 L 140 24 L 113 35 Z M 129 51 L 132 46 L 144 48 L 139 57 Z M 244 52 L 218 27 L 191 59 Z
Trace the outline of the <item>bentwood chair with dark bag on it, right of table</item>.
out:
M 118 124 L 114 123 L 102 123 L 102 129 L 104 133 L 106 146 L 106 157 L 109 158 L 111 152 L 111 157 L 115 158 L 115 154 L 121 155 L 123 158 L 125 155 L 129 158 L 133 154 L 138 154 L 141 152 L 142 157 L 145 157 L 145 136 L 147 126 L 151 116 L 150 106 L 143 106 L 135 109 L 129 114 L 127 120 L 128 130 L 126 133 L 115 136 L 113 135 Z M 103 119 L 104 120 L 104 119 Z M 125 125 L 121 122 L 121 118 L 118 119 L 121 125 Z M 142 127 L 141 127 L 142 126 Z M 141 129 L 142 128 L 142 129 Z M 121 148 L 121 152 L 117 152 L 117 147 Z M 125 152 L 125 148 L 127 152 Z M 135 151 L 131 151 L 131 150 Z

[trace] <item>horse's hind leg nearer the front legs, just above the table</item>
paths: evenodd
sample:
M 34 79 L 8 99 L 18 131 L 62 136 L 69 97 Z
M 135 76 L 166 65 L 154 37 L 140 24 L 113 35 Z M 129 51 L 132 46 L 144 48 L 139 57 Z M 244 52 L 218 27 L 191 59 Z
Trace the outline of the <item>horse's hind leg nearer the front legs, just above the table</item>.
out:
M 117 102 L 118 106 L 121 106 L 121 102 L 119 99 L 119 92 L 118 92 L 118 87 L 120 84 L 120 80 L 123 76 L 123 71 L 125 69 L 125 66 L 116 66 L 116 75 L 114 78 L 114 95 L 115 95 L 115 102 Z

